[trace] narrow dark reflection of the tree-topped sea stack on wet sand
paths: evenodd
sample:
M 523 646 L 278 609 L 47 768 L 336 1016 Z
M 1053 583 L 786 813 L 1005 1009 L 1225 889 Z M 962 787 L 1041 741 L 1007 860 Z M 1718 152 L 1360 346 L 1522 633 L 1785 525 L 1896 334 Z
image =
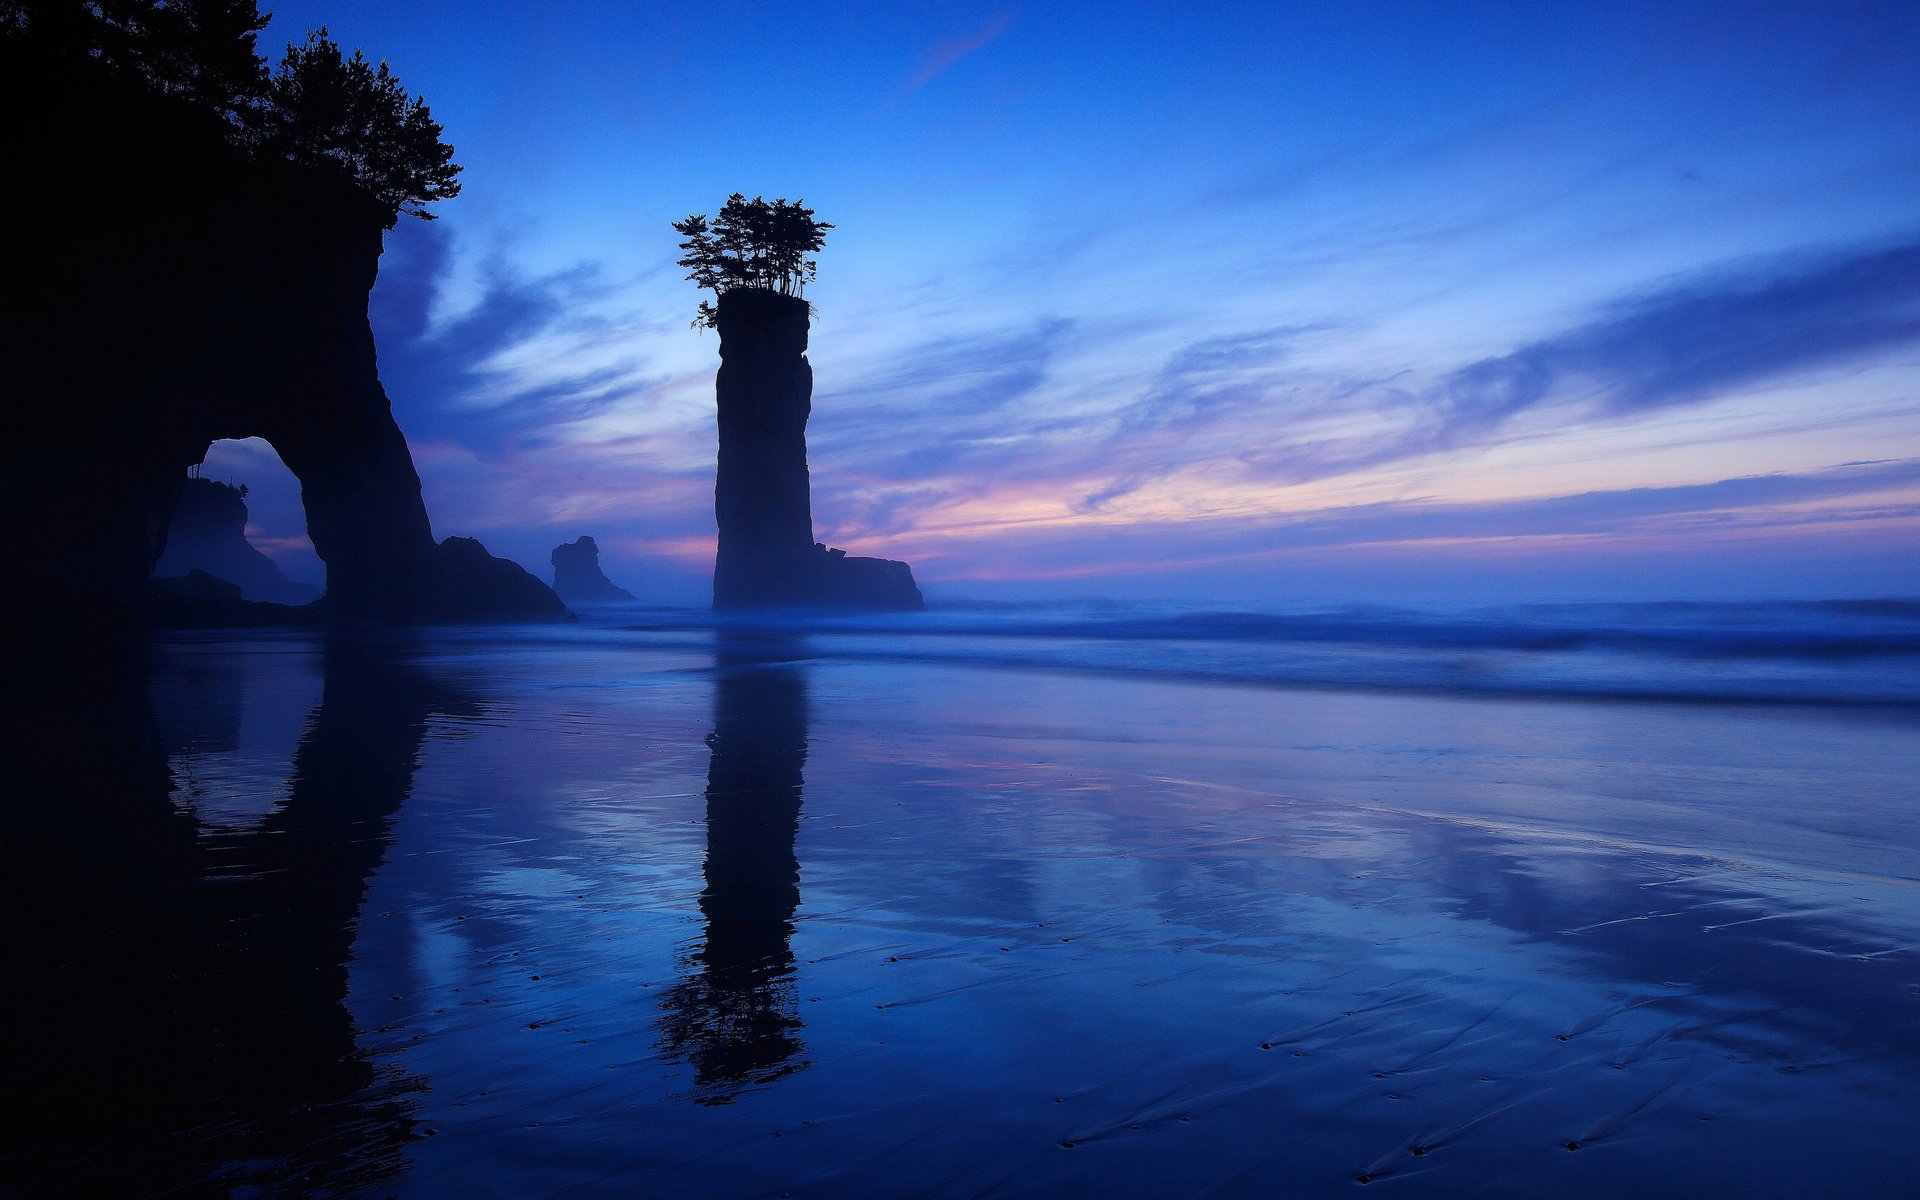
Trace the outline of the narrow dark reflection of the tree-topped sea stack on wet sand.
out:
M 707 737 L 707 937 L 664 998 L 662 1046 L 693 1066 L 699 1102 L 806 1066 L 793 987 L 793 839 L 806 766 L 806 678 L 795 666 L 722 668 Z

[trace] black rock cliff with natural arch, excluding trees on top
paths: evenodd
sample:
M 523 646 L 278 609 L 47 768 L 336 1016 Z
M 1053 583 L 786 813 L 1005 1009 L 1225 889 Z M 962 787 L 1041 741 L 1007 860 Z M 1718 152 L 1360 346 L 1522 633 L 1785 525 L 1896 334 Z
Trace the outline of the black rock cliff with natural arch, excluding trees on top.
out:
M 21 123 L 10 163 L 31 236 L 4 284 L 21 317 L 0 332 L 17 411 L 0 601 L 134 620 L 186 468 L 259 436 L 300 476 L 330 618 L 447 614 L 461 589 L 367 323 L 384 209 L 336 177 L 248 161 L 198 113 L 29 84 L 0 83 L 0 100 L 58 117 Z

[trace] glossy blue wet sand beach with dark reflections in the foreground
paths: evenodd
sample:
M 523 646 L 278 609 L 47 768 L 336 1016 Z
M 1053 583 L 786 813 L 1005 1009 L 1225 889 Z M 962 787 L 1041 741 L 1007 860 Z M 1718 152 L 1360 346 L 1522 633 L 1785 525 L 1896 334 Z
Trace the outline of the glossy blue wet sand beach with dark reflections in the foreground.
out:
M 29 1194 L 1920 1177 L 1907 710 L 474 630 L 92 720 L 13 854 Z

